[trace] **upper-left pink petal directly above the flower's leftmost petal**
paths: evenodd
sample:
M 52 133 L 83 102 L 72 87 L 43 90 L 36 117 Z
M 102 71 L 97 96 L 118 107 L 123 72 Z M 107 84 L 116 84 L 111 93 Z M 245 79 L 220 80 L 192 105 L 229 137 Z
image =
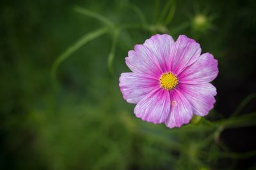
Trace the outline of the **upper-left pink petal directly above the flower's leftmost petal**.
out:
M 135 45 L 134 50 L 128 52 L 125 57 L 126 65 L 134 73 L 149 74 L 159 78 L 161 67 L 153 53 L 144 45 Z

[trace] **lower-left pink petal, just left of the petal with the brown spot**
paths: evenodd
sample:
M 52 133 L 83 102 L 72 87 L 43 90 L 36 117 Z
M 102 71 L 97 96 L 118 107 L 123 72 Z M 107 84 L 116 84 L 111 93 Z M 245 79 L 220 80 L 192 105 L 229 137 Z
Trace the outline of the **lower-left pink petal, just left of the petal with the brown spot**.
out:
M 170 94 L 156 89 L 145 96 L 134 108 L 136 117 L 154 124 L 163 123 L 170 113 Z

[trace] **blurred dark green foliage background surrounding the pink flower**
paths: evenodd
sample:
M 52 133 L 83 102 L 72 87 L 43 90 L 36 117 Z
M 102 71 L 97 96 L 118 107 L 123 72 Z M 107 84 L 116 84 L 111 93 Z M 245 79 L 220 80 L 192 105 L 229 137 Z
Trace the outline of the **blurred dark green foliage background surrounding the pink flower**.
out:
M 255 1 L 1 1 L 0 169 L 256 169 Z M 186 34 L 218 59 L 207 117 L 136 118 L 133 46 Z

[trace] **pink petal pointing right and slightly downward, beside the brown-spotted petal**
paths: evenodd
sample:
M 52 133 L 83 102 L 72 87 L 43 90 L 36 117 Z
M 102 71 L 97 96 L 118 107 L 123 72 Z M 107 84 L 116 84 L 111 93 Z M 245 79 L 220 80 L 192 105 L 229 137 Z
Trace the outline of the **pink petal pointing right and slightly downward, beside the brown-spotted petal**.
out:
M 196 115 L 205 116 L 212 110 L 217 92 L 211 83 L 197 85 L 180 83 L 179 90 L 187 97 Z

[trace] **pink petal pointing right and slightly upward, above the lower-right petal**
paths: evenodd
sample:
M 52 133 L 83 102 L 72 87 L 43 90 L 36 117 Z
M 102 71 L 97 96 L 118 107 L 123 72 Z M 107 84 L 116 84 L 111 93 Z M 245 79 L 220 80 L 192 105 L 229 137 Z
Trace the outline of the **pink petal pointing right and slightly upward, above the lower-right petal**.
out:
M 214 80 L 217 74 L 218 61 L 211 53 L 203 53 L 195 63 L 180 73 L 178 78 L 180 83 L 208 83 Z

